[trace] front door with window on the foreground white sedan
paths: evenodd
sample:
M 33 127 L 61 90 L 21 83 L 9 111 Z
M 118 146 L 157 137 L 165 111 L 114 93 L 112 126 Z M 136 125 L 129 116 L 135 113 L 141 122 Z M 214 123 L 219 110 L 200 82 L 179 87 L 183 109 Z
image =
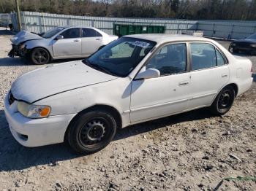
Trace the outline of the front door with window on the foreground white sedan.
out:
M 134 80 L 131 90 L 131 122 L 164 117 L 187 110 L 189 73 L 187 44 L 167 44 L 148 61 L 146 69 L 160 77 Z

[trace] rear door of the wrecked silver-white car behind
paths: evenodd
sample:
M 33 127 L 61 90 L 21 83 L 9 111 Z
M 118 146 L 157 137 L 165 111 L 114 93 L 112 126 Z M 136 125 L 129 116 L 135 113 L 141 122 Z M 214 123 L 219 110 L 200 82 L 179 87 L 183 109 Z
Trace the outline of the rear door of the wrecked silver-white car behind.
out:
M 87 57 L 102 46 L 102 34 L 93 28 L 82 28 L 82 54 Z

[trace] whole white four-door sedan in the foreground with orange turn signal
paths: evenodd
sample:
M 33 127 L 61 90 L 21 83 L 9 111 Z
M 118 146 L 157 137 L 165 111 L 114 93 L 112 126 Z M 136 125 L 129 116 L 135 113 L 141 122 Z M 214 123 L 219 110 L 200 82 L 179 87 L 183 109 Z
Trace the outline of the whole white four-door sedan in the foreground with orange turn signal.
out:
M 80 153 L 107 146 L 118 128 L 209 107 L 225 114 L 252 85 L 252 63 L 196 36 L 123 36 L 83 61 L 23 74 L 4 111 L 26 147 L 67 141 Z

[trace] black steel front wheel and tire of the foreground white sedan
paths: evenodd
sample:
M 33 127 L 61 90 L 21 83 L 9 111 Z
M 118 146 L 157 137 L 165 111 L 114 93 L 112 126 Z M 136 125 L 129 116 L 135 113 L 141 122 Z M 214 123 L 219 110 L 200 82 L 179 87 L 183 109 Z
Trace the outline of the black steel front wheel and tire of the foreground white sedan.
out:
M 67 141 L 80 154 L 98 152 L 112 141 L 116 135 L 116 126 L 116 120 L 110 112 L 84 112 L 70 125 Z

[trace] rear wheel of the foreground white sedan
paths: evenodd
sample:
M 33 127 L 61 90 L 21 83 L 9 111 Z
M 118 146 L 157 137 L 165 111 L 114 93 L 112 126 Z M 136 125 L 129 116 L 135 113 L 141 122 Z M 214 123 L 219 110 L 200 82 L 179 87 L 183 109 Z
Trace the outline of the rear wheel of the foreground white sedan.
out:
M 236 93 L 232 86 L 224 87 L 211 104 L 211 113 L 215 115 L 222 115 L 227 113 L 235 100 Z

